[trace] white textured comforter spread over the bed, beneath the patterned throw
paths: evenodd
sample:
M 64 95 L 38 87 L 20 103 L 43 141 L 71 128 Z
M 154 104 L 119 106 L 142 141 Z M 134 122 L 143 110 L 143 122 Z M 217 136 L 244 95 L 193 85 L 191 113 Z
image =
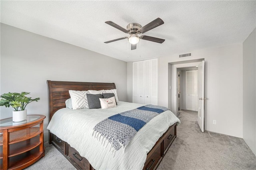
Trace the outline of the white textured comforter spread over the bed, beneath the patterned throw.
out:
M 47 129 L 68 142 L 81 156 L 85 157 L 96 170 L 141 170 L 147 153 L 157 140 L 174 123 L 180 120 L 170 111 L 165 111 L 146 123 L 130 141 L 125 150 L 119 149 L 115 156 L 92 136 L 94 126 L 100 121 L 143 106 L 136 103 L 118 102 L 110 109 L 63 108 L 52 117 Z

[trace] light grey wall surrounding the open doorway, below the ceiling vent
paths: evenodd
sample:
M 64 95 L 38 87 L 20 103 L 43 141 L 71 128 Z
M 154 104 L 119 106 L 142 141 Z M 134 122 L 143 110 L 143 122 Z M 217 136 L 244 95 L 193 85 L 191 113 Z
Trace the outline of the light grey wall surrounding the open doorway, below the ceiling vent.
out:
M 168 107 L 168 63 L 204 58 L 205 130 L 242 138 L 242 44 L 190 52 L 159 57 L 159 105 Z

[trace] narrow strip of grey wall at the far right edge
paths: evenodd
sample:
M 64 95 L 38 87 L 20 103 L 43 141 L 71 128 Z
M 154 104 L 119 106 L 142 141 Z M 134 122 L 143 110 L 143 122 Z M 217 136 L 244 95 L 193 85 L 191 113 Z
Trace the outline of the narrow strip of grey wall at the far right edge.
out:
M 243 43 L 243 138 L 256 154 L 256 29 Z

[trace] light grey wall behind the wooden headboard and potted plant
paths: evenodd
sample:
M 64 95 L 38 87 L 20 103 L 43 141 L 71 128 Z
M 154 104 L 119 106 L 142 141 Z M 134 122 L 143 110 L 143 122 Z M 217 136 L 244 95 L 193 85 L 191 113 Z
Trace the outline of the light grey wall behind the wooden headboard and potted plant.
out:
M 1 91 L 31 92 L 40 97 L 26 108 L 28 114 L 42 114 L 48 140 L 48 89 L 46 80 L 115 83 L 118 98 L 126 101 L 127 66 L 81 47 L 40 36 L 1 23 Z M 12 117 L 12 108 L 1 107 L 1 119 Z

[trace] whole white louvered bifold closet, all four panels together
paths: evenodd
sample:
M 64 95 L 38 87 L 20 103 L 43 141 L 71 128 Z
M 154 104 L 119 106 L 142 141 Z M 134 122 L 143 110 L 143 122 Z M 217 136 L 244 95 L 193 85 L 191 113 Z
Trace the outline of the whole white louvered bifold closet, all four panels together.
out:
M 158 59 L 132 63 L 132 102 L 158 105 Z

